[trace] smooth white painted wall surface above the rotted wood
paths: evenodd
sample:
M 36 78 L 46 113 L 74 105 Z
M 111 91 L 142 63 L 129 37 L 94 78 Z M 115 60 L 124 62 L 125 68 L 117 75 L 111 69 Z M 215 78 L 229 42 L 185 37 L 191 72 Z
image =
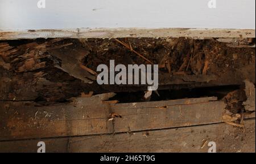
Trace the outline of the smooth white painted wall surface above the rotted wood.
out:
M 255 0 L 0 0 L 0 29 L 255 29 Z

